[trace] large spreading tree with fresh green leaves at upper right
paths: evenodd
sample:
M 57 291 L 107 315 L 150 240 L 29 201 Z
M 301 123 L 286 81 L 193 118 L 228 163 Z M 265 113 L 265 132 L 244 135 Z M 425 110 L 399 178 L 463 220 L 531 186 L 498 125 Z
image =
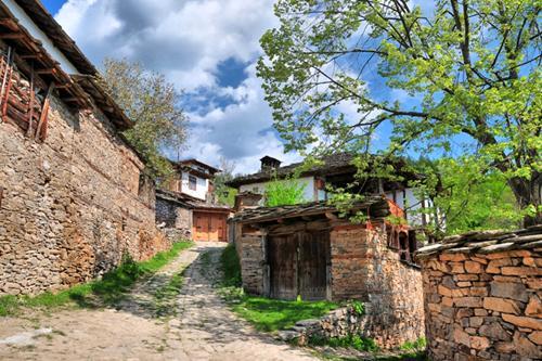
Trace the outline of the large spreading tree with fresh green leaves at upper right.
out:
M 288 150 L 360 154 L 360 175 L 383 127 L 385 156 L 472 155 L 504 177 L 527 224 L 542 222 L 540 1 L 424 3 L 279 0 L 258 64 L 275 128 Z M 410 100 L 382 100 L 367 73 Z

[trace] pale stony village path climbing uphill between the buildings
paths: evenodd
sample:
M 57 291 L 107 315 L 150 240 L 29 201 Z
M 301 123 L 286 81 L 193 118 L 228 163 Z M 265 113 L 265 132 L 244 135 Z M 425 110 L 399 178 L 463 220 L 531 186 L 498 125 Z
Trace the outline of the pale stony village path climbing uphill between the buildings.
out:
M 183 252 L 137 284 L 119 310 L 0 318 L 0 360 L 314 360 L 257 333 L 217 296 L 211 283 L 222 247 L 205 243 Z M 181 294 L 157 302 L 156 291 L 189 265 Z

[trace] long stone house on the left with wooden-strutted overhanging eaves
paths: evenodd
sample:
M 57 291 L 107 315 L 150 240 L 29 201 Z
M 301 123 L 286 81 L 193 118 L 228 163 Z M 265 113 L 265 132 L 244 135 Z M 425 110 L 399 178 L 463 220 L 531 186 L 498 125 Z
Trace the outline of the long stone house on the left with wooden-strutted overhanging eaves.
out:
M 0 2 L 0 294 L 89 281 L 170 243 L 132 126 L 33 0 Z

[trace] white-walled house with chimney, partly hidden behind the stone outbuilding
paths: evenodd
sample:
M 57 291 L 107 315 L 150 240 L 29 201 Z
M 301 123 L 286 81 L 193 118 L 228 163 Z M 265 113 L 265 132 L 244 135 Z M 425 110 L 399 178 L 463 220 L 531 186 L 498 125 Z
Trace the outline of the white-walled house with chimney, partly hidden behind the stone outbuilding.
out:
M 326 185 L 344 188 L 354 180 L 358 169 L 352 164 L 353 155 L 350 153 L 337 153 L 323 157 L 322 165 L 314 166 L 300 172 L 295 180 L 304 186 L 304 202 L 326 201 L 330 197 Z M 264 156 L 260 159 L 260 171 L 236 177 L 227 184 L 238 191 L 238 193 L 259 193 L 264 194 L 267 184 L 276 179 L 291 177 L 301 163 L 294 163 L 287 166 L 281 166 L 281 160 L 271 156 Z M 404 216 L 409 223 L 414 227 L 424 227 L 438 217 L 430 214 L 422 214 L 418 210 L 433 206 L 430 199 L 418 199 L 415 189 L 410 186 L 409 181 L 421 180 L 422 176 L 406 170 L 404 160 L 398 159 L 391 163 L 396 169 L 397 176 L 403 180 L 384 180 L 376 177 L 367 179 L 359 190 L 352 190 L 353 193 L 380 195 L 392 201 L 398 207 L 404 210 Z M 260 203 L 261 205 L 262 203 Z M 439 221 L 443 222 L 439 219 Z

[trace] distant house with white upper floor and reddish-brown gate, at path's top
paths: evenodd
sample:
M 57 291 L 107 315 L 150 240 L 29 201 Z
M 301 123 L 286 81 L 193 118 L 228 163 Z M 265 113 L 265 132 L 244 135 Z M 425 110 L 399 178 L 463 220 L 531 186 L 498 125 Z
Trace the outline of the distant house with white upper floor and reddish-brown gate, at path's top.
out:
M 231 209 L 218 204 L 214 189 L 220 169 L 197 159 L 173 166 L 176 173 L 156 193 L 156 222 L 175 236 L 228 242 Z

